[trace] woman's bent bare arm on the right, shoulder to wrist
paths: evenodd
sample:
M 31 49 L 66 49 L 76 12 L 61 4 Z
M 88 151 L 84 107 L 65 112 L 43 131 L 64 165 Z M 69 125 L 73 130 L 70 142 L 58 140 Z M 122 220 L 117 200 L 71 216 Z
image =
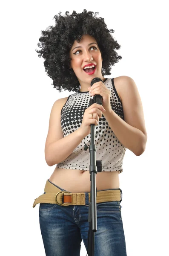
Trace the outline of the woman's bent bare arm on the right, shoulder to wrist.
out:
M 119 96 L 122 100 L 124 120 L 113 110 L 104 116 L 116 137 L 136 156 L 143 154 L 146 148 L 147 133 L 143 115 L 143 106 L 137 86 L 129 76 L 119 77 Z

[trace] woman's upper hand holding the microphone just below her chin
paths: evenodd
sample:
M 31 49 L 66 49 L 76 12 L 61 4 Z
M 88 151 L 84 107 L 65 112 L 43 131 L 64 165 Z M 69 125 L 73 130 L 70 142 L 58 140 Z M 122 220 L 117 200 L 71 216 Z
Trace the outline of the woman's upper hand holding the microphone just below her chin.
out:
M 103 97 L 103 108 L 108 112 L 112 110 L 110 105 L 110 90 L 101 81 L 88 87 L 91 96 L 100 95 Z

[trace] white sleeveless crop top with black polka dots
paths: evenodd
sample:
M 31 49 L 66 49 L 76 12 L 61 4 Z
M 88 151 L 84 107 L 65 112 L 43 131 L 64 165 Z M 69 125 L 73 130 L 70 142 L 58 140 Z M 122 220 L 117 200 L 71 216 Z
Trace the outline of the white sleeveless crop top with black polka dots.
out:
M 115 89 L 114 78 L 106 79 L 104 84 L 111 91 L 110 104 L 112 110 L 124 120 L 123 106 Z M 64 137 L 80 128 L 84 111 L 89 108 L 89 100 L 92 97 L 89 95 L 89 91 L 77 91 L 69 95 L 61 110 L 60 118 Z M 89 171 L 90 153 L 89 149 L 84 150 L 85 144 L 89 147 L 90 134 L 83 138 L 69 157 L 63 162 L 57 163 L 57 167 Z M 102 172 L 123 172 L 122 165 L 126 147 L 115 136 L 104 115 L 99 119 L 99 124 L 95 126 L 95 145 L 97 150 L 96 160 L 102 160 Z

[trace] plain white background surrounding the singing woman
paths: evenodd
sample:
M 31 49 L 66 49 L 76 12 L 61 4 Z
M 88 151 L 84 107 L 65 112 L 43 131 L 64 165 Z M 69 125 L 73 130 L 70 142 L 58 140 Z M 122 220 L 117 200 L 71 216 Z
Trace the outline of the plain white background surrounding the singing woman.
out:
M 143 104 L 148 140 L 139 157 L 126 150 L 120 188 L 128 256 L 168 253 L 168 60 L 167 1 L 8 1 L 0 15 L 1 249 L 3 256 L 45 256 L 39 204 L 54 167 L 44 147 L 53 103 L 59 93 L 46 75 L 35 49 L 40 30 L 54 25 L 54 15 L 73 10 L 99 12 L 121 45 L 123 58 L 112 75 L 130 76 Z M 82 242 L 80 256 L 86 256 Z

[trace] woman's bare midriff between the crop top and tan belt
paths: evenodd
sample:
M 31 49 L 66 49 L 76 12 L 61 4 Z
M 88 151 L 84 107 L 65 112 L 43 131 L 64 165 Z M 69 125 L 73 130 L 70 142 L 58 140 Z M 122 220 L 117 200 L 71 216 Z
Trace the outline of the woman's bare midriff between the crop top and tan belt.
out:
M 89 171 L 62 169 L 56 166 L 49 180 L 69 192 L 90 192 L 91 182 Z M 96 187 L 97 191 L 103 189 L 118 189 L 119 172 L 97 172 Z

